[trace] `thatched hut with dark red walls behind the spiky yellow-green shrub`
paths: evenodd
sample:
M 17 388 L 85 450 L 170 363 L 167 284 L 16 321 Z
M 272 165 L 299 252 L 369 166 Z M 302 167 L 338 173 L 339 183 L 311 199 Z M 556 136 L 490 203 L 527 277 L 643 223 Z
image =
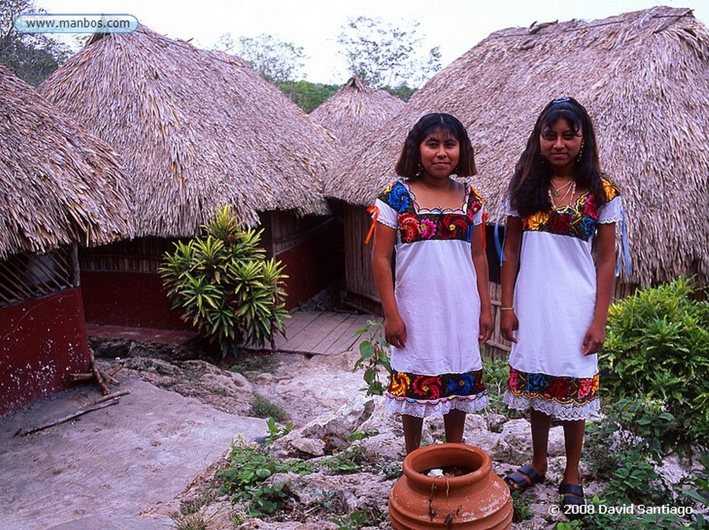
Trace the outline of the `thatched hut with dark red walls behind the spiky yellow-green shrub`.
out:
M 116 148 L 135 193 L 138 239 L 79 256 L 89 322 L 181 326 L 157 267 L 225 203 L 264 227 L 291 306 L 330 280 L 320 177 L 335 140 L 244 60 L 140 26 L 94 36 L 39 91 Z

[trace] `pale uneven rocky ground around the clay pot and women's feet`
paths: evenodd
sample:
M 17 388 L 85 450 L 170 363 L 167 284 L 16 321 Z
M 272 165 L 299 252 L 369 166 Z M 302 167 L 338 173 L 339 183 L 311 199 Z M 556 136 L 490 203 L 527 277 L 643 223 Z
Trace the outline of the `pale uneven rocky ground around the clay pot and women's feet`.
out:
M 284 412 L 279 429 L 292 424 L 288 434 L 265 450 L 281 461 L 301 458 L 316 468 L 308 475 L 279 473 L 270 477 L 264 485 L 288 484 L 286 507 L 272 516 L 250 517 L 247 504 L 232 504 L 228 496 L 218 493 L 216 472 L 227 461 L 229 448 L 225 447 L 222 458 L 174 502 L 156 507 L 156 511 L 169 510 L 180 529 L 391 529 L 386 502 L 401 475 L 403 434 L 398 419 L 384 412 L 381 397 L 368 397 L 360 390 L 362 372 L 352 373 L 356 353 L 251 355 L 234 367 L 238 371 L 206 361 L 145 356 L 148 353 L 150 349 L 143 351 L 133 344 L 133 356 L 121 359 L 125 363 L 121 373 L 135 374 L 152 385 L 235 415 L 263 413 L 254 410 L 255 396 L 259 396 L 256 405 L 275 405 Z M 101 359 L 101 363 L 115 362 Z M 496 407 L 490 408 L 468 416 L 465 439 L 487 451 L 493 458 L 493 470 L 503 476 L 527 462 L 529 424 L 526 419 L 509 419 L 496 414 Z M 423 443 L 442 438 L 442 421 L 427 419 Z M 525 519 L 515 522 L 513 529 L 551 528 L 564 520 L 552 508 L 557 505 L 563 453 L 562 429 L 554 427 L 549 439 L 547 483 L 520 497 L 517 504 L 523 507 Z M 601 489 L 588 473 L 585 478 L 588 494 Z M 369 522 L 362 526 L 366 520 Z

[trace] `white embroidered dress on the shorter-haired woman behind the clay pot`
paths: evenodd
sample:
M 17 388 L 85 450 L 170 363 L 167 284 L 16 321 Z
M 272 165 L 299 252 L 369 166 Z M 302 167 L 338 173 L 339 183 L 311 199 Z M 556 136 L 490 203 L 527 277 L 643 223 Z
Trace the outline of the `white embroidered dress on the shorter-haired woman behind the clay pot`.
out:
M 425 417 L 488 403 L 478 344 L 480 298 L 471 234 L 482 222 L 479 194 L 466 184 L 456 210 L 426 210 L 404 179 L 376 200 L 377 222 L 396 229 L 396 304 L 406 346 L 391 347 L 389 412 Z

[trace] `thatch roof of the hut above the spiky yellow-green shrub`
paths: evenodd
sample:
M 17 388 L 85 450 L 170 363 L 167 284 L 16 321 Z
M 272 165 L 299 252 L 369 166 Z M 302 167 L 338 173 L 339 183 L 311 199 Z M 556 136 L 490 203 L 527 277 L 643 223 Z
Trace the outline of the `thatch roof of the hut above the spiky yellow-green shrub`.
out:
M 139 236 L 191 236 L 228 203 L 327 213 L 335 140 L 244 60 L 140 26 L 94 39 L 39 91 L 123 155 Z

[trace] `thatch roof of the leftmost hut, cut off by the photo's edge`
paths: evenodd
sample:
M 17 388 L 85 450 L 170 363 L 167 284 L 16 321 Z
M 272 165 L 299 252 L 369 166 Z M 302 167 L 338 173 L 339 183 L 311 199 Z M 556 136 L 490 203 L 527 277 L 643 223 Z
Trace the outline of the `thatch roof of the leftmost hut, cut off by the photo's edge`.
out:
M 0 64 L 0 259 L 130 237 L 125 181 L 111 147 Z

